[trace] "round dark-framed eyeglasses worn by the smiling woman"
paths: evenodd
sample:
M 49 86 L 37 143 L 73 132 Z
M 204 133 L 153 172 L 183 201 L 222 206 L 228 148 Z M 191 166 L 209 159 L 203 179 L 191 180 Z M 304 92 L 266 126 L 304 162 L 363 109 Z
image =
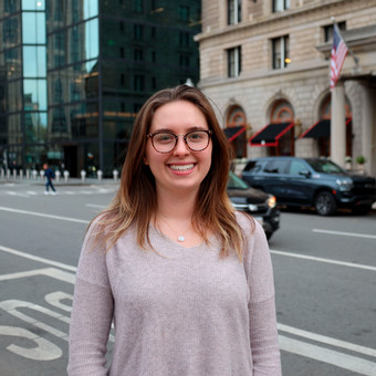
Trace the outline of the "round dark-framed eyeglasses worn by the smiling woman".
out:
M 182 136 L 190 150 L 202 152 L 208 147 L 211 134 L 212 130 L 192 130 L 186 135 L 176 135 L 171 132 L 156 132 L 148 134 L 147 137 L 152 138 L 152 145 L 158 153 L 173 152 L 179 136 Z

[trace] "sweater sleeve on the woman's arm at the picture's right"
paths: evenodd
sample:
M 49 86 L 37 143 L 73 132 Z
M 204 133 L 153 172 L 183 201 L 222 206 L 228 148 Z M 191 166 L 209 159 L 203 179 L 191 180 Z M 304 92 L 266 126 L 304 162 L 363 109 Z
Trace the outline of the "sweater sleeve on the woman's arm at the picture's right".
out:
M 249 227 L 248 227 L 249 228 Z M 248 230 L 251 233 L 250 230 Z M 250 291 L 249 317 L 253 376 L 280 376 L 281 357 L 276 331 L 273 269 L 262 227 L 247 236 L 244 269 Z

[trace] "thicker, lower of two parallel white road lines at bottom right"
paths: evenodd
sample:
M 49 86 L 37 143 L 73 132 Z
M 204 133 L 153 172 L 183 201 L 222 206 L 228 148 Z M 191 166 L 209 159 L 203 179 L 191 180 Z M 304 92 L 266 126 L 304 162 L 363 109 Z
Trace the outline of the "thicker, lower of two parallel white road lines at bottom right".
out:
M 326 347 L 320 347 L 310 343 L 279 336 L 280 347 L 282 351 L 305 356 L 315 361 L 333 364 L 337 367 L 356 372 L 361 375 L 376 375 L 376 363 L 366 361 L 353 355 L 343 354 Z

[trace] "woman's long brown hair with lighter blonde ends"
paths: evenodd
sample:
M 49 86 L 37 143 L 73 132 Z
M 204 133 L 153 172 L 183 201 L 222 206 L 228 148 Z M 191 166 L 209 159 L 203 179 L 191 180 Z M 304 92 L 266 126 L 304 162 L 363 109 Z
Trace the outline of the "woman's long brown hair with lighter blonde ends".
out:
M 149 167 L 143 164 L 146 135 L 149 133 L 157 108 L 174 101 L 188 101 L 195 104 L 212 130 L 211 166 L 199 188 L 192 217 L 194 228 L 205 241 L 208 241 L 207 230 L 220 238 L 221 257 L 229 255 L 230 250 L 234 249 L 241 259 L 243 234 L 227 195 L 231 148 L 209 100 L 198 88 L 187 85 L 157 92 L 145 102 L 137 114 L 122 170 L 121 186 L 109 207 L 100 215 L 95 223 L 96 240 L 103 241 L 109 249 L 129 226 L 134 224 L 137 229 L 138 244 L 144 249 L 146 243 L 152 247 L 148 228 L 157 210 L 157 195 L 155 178 Z

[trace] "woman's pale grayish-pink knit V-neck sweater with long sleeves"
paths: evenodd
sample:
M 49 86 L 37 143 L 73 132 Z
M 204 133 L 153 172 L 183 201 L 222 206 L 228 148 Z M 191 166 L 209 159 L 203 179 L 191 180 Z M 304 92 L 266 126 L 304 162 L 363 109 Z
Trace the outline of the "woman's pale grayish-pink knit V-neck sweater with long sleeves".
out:
M 182 248 L 150 227 L 159 252 L 129 229 L 107 253 L 83 244 L 70 328 L 69 375 L 281 375 L 271 258 L 259 223 L 244 262 L 220 244 Z M 91 249 L 91 250 L 90 250 Z M 114 321 L 109 369 L 106 344 Z

